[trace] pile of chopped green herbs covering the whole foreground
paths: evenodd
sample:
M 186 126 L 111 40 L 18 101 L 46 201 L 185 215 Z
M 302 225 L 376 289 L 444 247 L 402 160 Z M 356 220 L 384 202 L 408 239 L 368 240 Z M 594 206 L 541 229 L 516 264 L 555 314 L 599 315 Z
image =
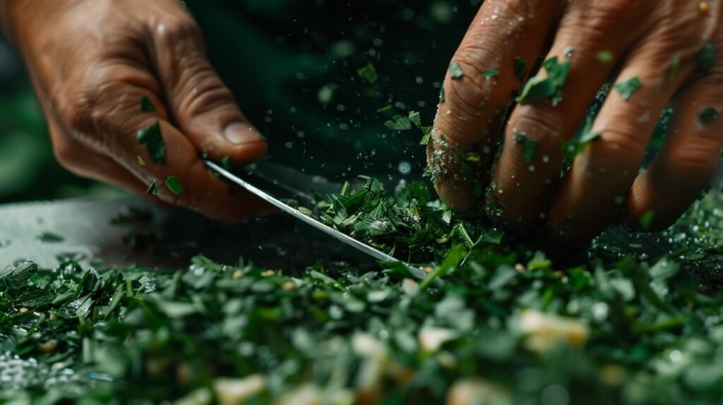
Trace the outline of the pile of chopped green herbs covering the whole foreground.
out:
M 700 201 L 659 258 L 596 248 L 559 267 L 470 227 L 422 183 L 372 178 L 325 220 L 414 272 L 296 276 L 197 257 L 188 269 L 0 271 L 0 401 L 184 404 L 717 404 L 722 214 Z M 403 252 L 403 255 L 401 252 Z

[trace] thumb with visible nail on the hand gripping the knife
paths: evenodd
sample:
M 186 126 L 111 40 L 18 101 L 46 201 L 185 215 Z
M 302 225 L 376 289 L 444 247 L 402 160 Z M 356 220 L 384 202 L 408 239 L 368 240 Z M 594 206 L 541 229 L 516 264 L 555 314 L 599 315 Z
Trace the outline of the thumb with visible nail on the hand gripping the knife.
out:
M 267 150 L 265 139 L 241 113 L 231 91 L 208 62 L 200 30 L 178 6 L 153 25 L 153 52 L 172 122 L 214 160 L 252 162 Z

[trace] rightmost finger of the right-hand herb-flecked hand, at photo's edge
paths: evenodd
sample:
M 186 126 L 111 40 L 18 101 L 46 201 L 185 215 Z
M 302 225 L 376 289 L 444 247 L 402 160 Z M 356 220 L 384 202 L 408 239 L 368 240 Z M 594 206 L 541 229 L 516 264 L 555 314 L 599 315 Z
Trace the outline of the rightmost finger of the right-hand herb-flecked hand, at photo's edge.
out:
M 648 170 L 638 176 L 624 221 L 636 230 L 672 225 L 710 186 L 723 148 L 723 64 L 677 96 L 672 131 Z

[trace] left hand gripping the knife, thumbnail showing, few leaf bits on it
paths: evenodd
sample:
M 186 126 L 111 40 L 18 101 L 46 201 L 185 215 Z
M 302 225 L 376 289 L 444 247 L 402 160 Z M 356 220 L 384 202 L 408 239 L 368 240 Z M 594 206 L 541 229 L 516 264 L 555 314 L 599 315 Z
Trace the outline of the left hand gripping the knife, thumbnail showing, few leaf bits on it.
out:
M 0 0 L 0 6 L 62 165 L 141 196 L 155 181 L 164 203 L 217 219 L 241 219 L 262 206 L 247 193 L 230 193 L 199 158 L 204 151 L 241 165 L 262 157 L 266 144 L 210 66 L 180 1 Z M 162 141 L 153 139 L 155 123 Z M 139 144 L 138 131 L 149 127 L 150 141 Z M 181 193 L 166 187 L 169 176 L 179 180 Z

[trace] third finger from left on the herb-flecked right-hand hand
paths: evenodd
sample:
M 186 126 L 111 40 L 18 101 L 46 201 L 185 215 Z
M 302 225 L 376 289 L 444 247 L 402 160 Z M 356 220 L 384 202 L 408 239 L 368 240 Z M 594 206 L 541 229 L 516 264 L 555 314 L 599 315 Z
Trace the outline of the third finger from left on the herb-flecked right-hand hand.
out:
M 669 80 L 660 67 L 667 64 L 667 55 L 641 49 L 620 73 L 616 83 L 624 84 L 622 90 L 610 92 L 592 128 L 600 134 L 598 139 L 577 157 L 552 202 L 549 222 L 556 238 L 594 238 L 620 212 L 658 118 L 688 76 L 681 72 L 678 79 Z

